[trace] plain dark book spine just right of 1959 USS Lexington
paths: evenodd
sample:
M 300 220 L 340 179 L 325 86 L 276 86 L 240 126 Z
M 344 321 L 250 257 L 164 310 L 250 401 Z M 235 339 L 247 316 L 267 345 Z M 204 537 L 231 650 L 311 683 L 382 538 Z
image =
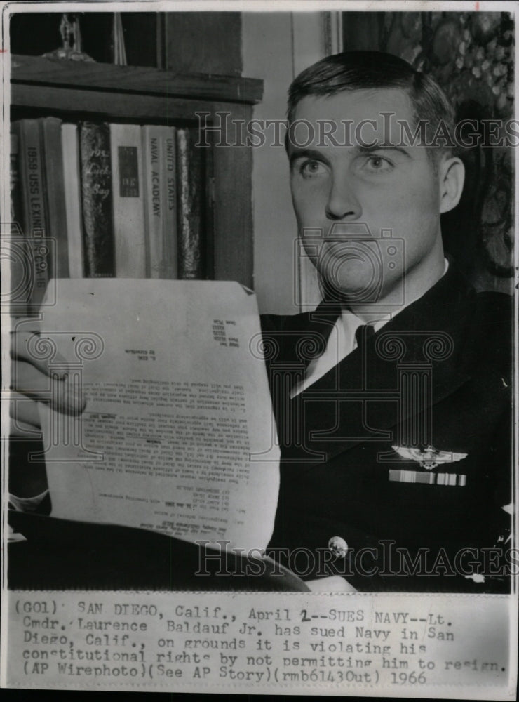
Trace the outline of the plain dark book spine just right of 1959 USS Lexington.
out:
M 69 277 L 65 179 L 61 147 L 61 120 L 42 117 L 39 121 L 43 153 L 43 185 L 46 194 L 47 236 L 55 241 L 49 277 Z

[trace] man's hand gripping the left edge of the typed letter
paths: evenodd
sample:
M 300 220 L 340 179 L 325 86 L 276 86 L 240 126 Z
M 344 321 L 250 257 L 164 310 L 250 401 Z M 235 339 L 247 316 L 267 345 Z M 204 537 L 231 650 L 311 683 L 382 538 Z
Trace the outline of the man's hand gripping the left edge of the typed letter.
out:
M 35 336 L 39 336 L 37 320 L 27 320 L 11 333 L 11 395 L 9 415 L 11 436 L 30 439 L 39 435 L 40 421 L 38 402 L 49 402 L 50 406 L 65 414 L 80 414 L 85 409 L 81 389 L 67 383 L 67 371 L 53 371 L 48 359 L 39 359 L 31 352 Z M 66 366 L 61 355 L 53 357 Z

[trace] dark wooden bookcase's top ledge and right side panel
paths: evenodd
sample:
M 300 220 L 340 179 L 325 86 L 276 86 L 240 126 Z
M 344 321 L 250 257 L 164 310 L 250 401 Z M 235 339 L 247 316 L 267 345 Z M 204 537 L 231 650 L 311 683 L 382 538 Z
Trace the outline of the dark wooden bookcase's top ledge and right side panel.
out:
M 149 67 L 11 57 L 11 119 L 53 115 L 69 120 L 197 126 L 227 112 L 227 123 L 252 118 L 259 79 L 179 75 Z M 234 140 L 234 129 L 229 132 Z M 208 137 L 208 141 L 211 138 Z M 205 277 L 252 287 L 252 154 L 250 147 L 205 150 Z

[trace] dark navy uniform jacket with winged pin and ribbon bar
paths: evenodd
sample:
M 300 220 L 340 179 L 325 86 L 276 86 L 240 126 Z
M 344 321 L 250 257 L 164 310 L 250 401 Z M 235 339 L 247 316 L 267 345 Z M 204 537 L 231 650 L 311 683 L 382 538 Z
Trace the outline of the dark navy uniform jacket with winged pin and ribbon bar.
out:
M 476 293 L 451 263 L 290 399 L 338 314 L 262 319 L 281 444 L 273 555 L 360 590 L 506 590 L 511 298 Z M 426 465 L 428 448 L 447 460 Z

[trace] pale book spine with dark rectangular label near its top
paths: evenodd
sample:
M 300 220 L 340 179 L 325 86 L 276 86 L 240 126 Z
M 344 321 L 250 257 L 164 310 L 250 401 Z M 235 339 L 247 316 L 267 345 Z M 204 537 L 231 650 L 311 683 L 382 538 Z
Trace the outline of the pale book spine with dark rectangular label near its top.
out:
M 146 277 L 142 138 L 138 124 L 110 124 L 116 276 Z

